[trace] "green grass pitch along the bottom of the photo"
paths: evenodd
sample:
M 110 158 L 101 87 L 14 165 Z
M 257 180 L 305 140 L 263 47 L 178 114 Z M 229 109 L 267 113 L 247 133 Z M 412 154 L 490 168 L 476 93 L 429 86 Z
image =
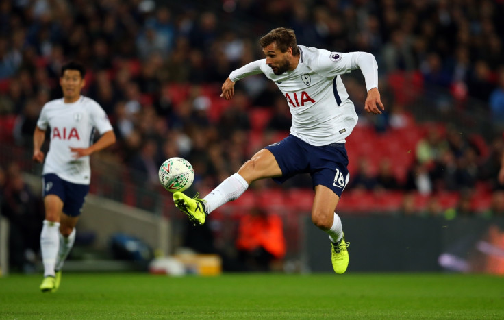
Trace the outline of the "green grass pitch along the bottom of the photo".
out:
M 444 273 L 63 273 L 0 278 L 0 319 L 504 319 L 504 278 Z

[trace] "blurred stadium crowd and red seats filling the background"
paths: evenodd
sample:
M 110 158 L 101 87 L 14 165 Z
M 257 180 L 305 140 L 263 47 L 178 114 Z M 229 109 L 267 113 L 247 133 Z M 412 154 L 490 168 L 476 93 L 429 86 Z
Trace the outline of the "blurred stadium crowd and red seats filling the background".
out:
M 78 60 L 88 68 L 84 93 L 108 113 L 118 137 L 100 157 L 131 169 L 137 186 L 152 187 L 159 164 L 181 156 L 194 166 L 196 188 L 211 189 L 288 133 L 286 100 L 264 77 L 237 84 L 231 101 L 219 97 L 230 71 L 262 58 L 257 38 L 285 26 L 300 44 L 377 58 L 383 116 L 363 113 L 362 79 L 345 77 L 361 115 L 349 138 L 349 192 L 449 191 L 460 205 L 466 195 L 485 195 L 485 210 L 504 214 L 496 179 L 504 150 L 503 1 L 215 2 L 1 0 L 2 143 L 30 149 L 40 109 L 61 96 L 60 66 Z M 432 101 L 413 112 L 426 95 Z M 420 121 L 439 111 L 457 116 L 471 101 L 483 106 L 490 135 Z M 390 145 L 407 156 L 386 153 Z M 310 186 L 301 177 L 283 187 Z M 408 201 L 401 197 L 401 208 L 415 212 Z

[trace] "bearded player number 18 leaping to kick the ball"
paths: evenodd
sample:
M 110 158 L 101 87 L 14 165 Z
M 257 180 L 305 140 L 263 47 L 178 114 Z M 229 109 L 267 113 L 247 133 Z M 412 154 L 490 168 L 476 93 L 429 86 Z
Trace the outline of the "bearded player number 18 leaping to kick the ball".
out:
M 339 53 L 297 45 L 294 32 L 286 28 L 271 30 L 260 39 L 260 45 L 266 59 L 231 72 L 220 96 L 231 99 L 238 80 L 264 73 L 288 101 L 292 114 L 289 136 L 255 153 L 238 173 L 203 199 L 173 193 L 175 206 L 201 224 L 207 214 L 240 197 L 255 180 L 272 177 L 281 183 L 293 175 L 310 173 L 315 190 L 312 221 L 329 234 L 333 269 L 344 273 L 349 264 L 349 243 L 344 240 L 335 210 L 349 181 L 345 138 L 355 127 L 357 114 L 340 75 L 360 69 L 368 90 L 364 108 L 381 114 L 384 107 L 378 91 L 377 62 L 370 53 Z

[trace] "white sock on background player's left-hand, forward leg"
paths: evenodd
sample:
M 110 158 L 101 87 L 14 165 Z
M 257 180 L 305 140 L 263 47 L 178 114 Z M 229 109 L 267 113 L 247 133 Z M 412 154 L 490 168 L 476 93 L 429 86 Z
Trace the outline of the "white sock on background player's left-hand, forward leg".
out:
M 44 276 L 52 275 L 54 277 L 54 267 L 56 256 L 58 256 L 58 247 L 60 240 L 60 223 L 44 220 L 42 232 L 40 232 L 40 251 L 42 251 L 42 264 L 44 264 Z

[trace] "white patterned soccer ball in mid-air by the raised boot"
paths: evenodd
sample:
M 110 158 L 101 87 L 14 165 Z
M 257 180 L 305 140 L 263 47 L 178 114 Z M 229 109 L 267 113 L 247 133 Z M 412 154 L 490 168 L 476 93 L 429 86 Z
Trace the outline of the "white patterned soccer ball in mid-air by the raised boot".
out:
M 171 193 L 187 190 L 194 181 L 194 170 L 188 160 L 169 158 L 161 164 L 159 171 L 161 185 Z

